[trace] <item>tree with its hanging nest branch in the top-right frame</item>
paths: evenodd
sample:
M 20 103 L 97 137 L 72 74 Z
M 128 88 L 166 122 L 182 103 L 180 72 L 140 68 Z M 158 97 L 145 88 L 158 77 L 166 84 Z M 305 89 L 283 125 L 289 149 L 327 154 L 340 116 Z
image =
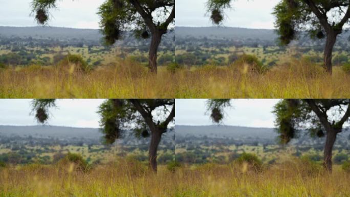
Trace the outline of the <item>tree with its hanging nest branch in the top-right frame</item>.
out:
M 223 10 L 230 8 L 232 0 L 208 0 L 211 20 L 220 24 Z M 326 37 L 323 65 L 332 74 L 332 53 L 337 36 L 349 24 L 350 2 L 348 0 L 281 0 L 274 8 L 275 27 L 282 45 L 297 39 L 298 32 L 308 32 L 311 38 Z

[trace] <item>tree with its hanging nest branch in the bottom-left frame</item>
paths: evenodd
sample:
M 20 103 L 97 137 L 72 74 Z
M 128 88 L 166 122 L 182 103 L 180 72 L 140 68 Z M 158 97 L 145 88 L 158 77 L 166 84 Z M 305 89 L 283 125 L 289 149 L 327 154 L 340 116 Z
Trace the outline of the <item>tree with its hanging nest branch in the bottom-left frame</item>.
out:
M 32 102 L 32 112 L 39 123 L 49 120 L 49 108 L 56 106 L 56 100 L 38 99 Z M 121 139 L 127 130 L 137 137 L 149 137 L 148 160 L 150 168 L 157 172 L 157 149 L 168 125 L 174 121 L 175 101 L 167 99 L 152 100 L 106 100 L 100 106 L 101 132 L 106 144 Z

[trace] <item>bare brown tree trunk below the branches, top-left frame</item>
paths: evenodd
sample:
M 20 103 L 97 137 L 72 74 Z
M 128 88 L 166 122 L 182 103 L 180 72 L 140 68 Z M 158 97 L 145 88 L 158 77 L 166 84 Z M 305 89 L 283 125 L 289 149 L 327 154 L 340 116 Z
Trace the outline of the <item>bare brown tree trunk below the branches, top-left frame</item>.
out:
M 151 72 L 157 73 L 157 53 L 162 40 L 162 33 L 159 30 L 152 32 L 151 43 L 148 54 L 148 67 Z

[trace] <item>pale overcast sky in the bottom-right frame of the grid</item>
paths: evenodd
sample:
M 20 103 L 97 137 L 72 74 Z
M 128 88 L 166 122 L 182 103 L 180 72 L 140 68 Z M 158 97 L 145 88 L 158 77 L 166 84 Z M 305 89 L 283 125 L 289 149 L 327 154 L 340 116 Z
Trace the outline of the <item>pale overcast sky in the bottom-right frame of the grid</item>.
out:
M 206 112 L 207 100 L 177 99 L 176 125 L 212 125 Z M 231 108 L 225 110 L 224 125 L 247 127 L 274 127 L 275 116 L 271 112 L 279 100 L 231 101 Z

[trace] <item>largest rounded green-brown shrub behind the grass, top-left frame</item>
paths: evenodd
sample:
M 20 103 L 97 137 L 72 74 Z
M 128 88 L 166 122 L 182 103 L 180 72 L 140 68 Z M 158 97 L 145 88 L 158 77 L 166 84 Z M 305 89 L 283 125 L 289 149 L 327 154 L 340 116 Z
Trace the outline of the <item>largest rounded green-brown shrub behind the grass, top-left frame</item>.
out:
M 91 67 L 86 63 L 80 55 L 68 54 L 61 61 L 59 61 L 59 68 L 71 69 L 71 65 L 74 65 L 74 71 L 88 72 Z

